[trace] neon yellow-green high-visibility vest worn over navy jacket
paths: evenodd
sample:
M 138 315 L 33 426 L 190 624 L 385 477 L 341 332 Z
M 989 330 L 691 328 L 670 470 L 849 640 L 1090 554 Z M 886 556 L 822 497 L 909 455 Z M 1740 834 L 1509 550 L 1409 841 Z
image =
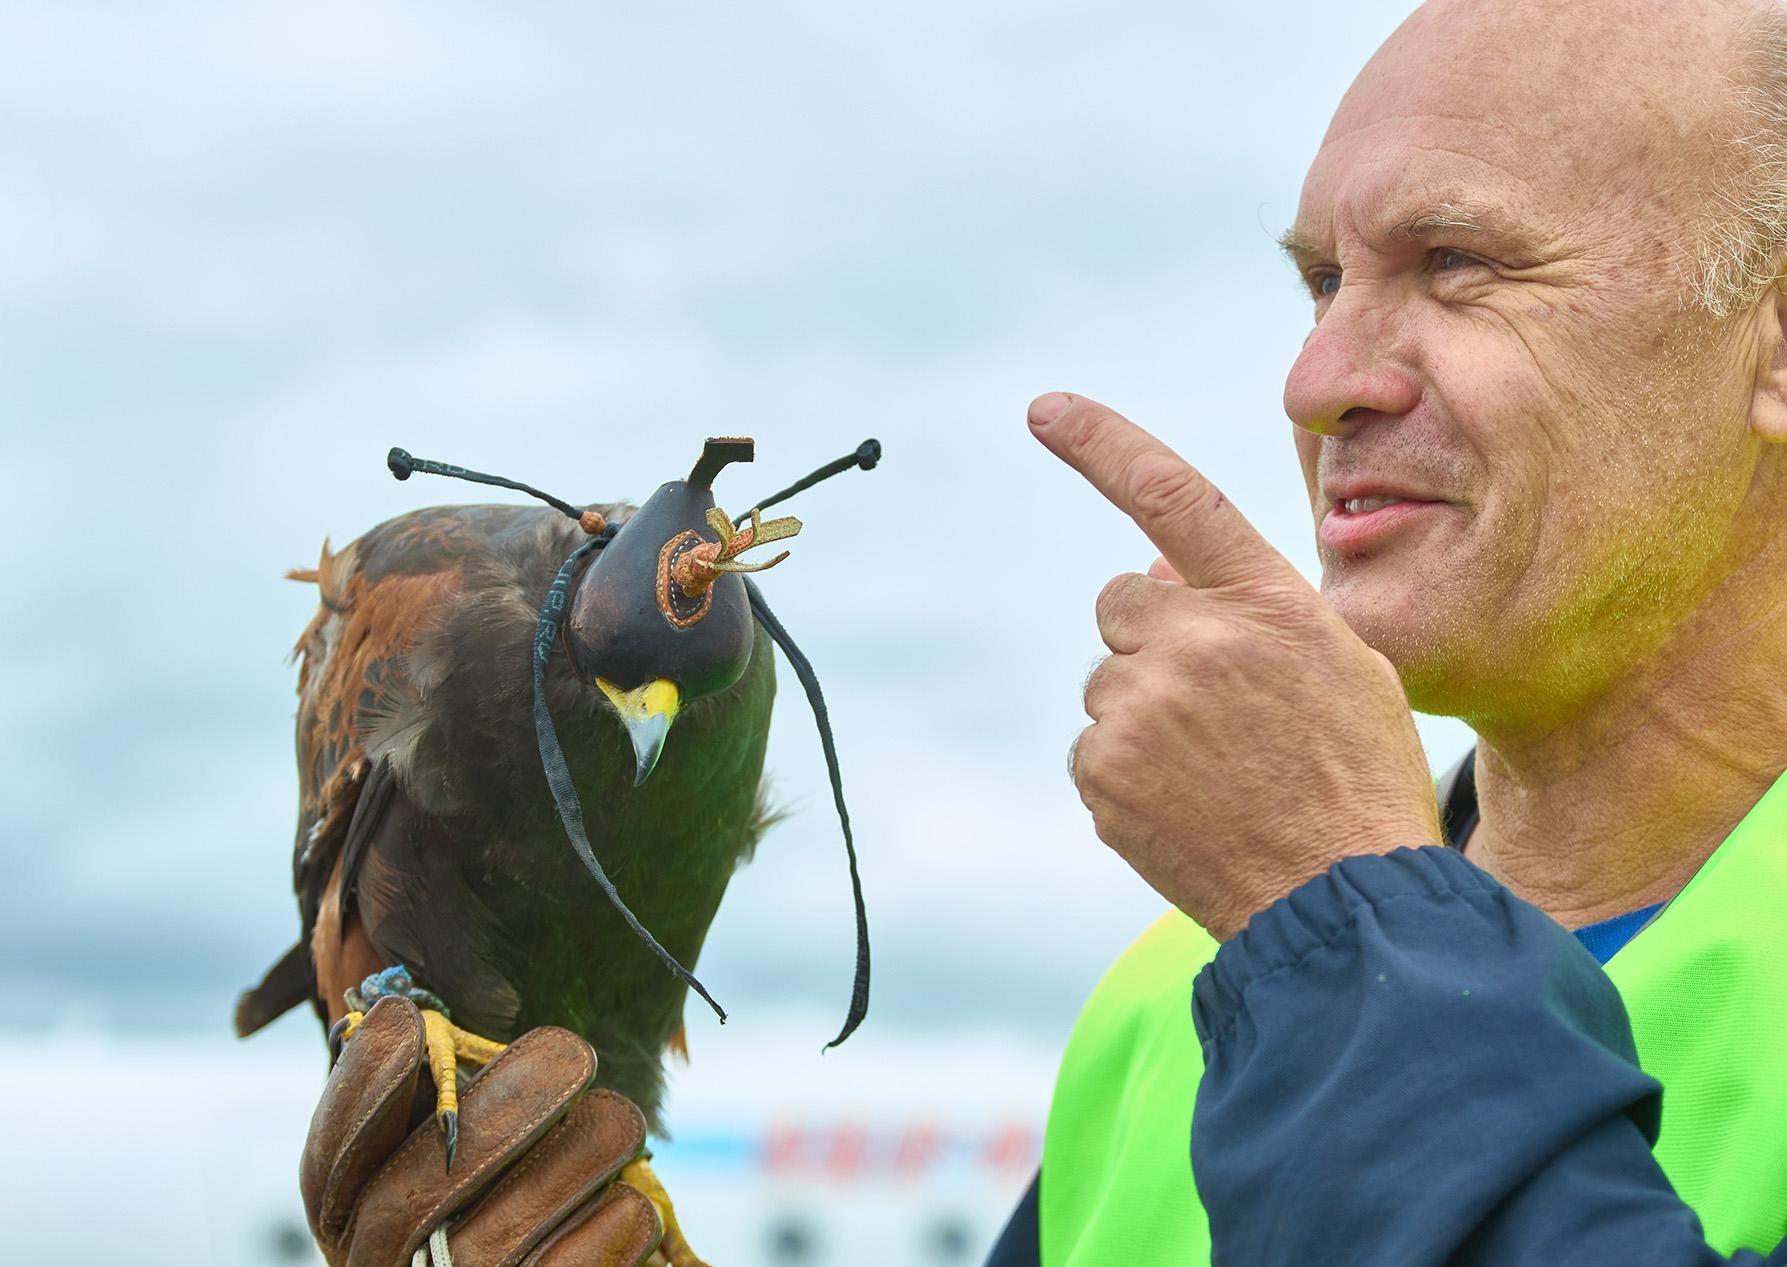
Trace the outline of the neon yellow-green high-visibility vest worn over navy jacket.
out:
M 1215 952 L 1169 911 L 1079 1013 L 1044 1133 L 1044 1267 L 1210 1262 L 1192 978 Z M 1719 1253 L 1773 1249 L 1787 1238 L 1787 774 L 1607 974 L 1664 1085 L 1664 1174 Z

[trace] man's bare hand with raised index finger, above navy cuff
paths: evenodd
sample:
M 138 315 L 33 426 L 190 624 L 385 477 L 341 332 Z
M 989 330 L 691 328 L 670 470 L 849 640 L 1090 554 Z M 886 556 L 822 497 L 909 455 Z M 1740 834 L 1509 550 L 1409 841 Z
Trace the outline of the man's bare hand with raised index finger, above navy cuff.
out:
M 1029 422 L 1162 554 L 1097 600 L 1074 783 L 1099 838 L 1222 940 L 1347 854 L 1439 843 L 1390 663 L 1151 434 L 1060 393 Z

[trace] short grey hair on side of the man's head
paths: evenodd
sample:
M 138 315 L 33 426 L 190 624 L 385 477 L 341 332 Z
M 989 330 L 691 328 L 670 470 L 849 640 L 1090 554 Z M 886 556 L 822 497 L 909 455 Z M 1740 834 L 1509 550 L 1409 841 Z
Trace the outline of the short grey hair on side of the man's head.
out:
M 1732 79 L 1737 134 L 1699 234 L 1691 297 L 1733 316 L 1783 279 L 1787 250 L 1787 5 L 1769 4 L 1739 30 Z

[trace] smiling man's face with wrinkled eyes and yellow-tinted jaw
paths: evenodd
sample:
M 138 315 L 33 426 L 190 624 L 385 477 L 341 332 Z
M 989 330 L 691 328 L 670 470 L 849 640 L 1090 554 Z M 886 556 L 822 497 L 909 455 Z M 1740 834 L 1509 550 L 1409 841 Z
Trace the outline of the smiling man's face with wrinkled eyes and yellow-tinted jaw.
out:
M 1417 708 L 1562 704 L 1633 663 L 1717 579 L 1755 465 L 1741 323 L 1683 307 L 1728 120 L 1682 59 L 1728 45 L 1689 4 L 1628 39 L 1630 9 L 1428 5 L 1287 234 L 1322 593 Z

